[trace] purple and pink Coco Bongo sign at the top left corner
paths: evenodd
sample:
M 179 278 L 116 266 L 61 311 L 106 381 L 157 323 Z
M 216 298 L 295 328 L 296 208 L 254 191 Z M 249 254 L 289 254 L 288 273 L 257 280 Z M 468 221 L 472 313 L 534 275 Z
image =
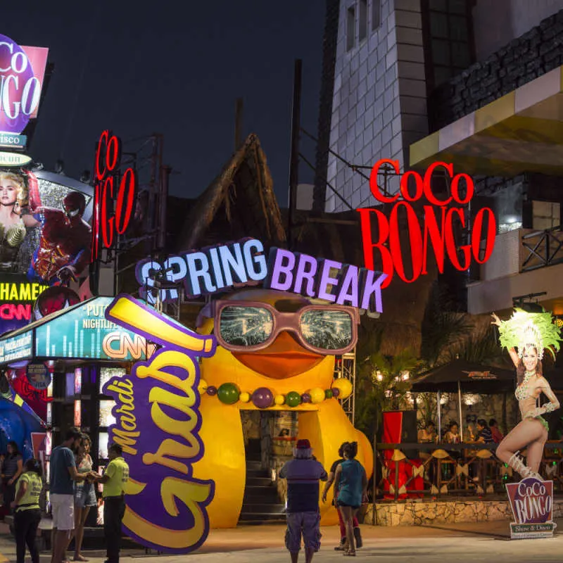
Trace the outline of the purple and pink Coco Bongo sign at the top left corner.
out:
M 0 35 L 0 131 L 21 133 L 37 117 L 48 49 Z

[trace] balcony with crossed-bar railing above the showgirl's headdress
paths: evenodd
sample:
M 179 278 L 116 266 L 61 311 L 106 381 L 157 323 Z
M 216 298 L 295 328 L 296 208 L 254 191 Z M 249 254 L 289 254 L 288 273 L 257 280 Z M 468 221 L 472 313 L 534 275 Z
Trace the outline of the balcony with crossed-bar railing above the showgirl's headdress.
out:
M 545 291 L 546 308 L 563 306 L 563 231 L 517 229 L 498 234 L 481 279 L 467 287 L 473 315 L 512 308 L 512 298 Z

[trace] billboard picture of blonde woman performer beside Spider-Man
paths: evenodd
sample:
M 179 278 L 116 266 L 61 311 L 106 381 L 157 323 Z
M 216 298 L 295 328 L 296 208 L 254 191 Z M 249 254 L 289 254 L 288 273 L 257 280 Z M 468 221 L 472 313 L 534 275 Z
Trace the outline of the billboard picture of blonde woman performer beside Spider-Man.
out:
M 77 279 L 90 260 L 88 201 L 29 170 L 0 168 L 0 272 L 47 285 Z

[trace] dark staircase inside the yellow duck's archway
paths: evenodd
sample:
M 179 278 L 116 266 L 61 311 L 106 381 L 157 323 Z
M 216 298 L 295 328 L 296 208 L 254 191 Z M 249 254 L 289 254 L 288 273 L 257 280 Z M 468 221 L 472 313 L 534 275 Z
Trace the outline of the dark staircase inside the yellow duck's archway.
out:
M 259 455 L 251 455 L 247 448 L 246 488 L 239 525 L 285 524 L 285 505 L 279 501 L 277 488 L 269 472 L 262 469 Z

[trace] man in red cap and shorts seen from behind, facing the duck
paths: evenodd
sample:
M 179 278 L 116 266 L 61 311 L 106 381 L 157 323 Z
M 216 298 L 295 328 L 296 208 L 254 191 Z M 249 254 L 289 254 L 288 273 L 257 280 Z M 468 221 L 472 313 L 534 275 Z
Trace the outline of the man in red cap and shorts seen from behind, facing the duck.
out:
M 293 460 L 284 464 L 280 479 L 287 479 L 286 548 L 291 563 L 297 563 L 301 537 L 305 544 L 305 563 L 320 550 L 319 481 L 327 481 L 327 472 L 313 459 L 308 440 L 298 440 L 293 448 Z

